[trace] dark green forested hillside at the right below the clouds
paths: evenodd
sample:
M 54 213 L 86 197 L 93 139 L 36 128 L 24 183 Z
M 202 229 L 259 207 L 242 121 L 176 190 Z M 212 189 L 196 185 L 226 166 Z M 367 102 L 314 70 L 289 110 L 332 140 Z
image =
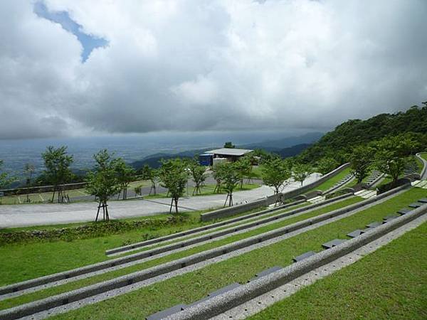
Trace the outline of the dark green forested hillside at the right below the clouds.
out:
M 367 120 L 352 119 L 339 124 L 332 132 L 325 134 L 318 142 L 302 151 L 298 158 L 306 163 L 315 163 L 324 156 L 339 162 L 345 161 L 345 154 L 354 146 L 368 144 L 389 135 L 413 132 L 427 148 L 427 102 L 423 107 L 413 106 L 406 112 L 378 114 Z

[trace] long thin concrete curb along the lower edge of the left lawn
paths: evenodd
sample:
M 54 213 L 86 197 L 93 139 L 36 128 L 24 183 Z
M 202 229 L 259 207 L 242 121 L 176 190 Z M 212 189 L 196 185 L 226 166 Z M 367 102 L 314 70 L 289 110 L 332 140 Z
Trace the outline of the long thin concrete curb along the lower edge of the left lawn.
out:
M 278 218 L 284 218 L 288 215 L 294 215 L 294 214 L 301 213 L 301 212 L 306 211 L 306 210 L 310 210 L 312 208 L 317 208 L 319 206 L 323 206 L 323 205 L 330 203 L 330 202 L 333 202 L 333 201 L 339 201 L 342 198 L 345 198 L 348 196 L 351 196 L 351 194 L 344 195 L 344 196 L 337 197 L 337 198 L 333 198 L 328 202 L 325 201 L 323 203 L 317 203 L 317 204 L 312 205 L 312 206 L 305 206 L 303 208 L 291 210 L 291 211 L 286 212 L 286 213 L 280 213 L 278 215 L 275 215 L 274 217 L 268 217 L 265 219 L 253 221 L 251 223 L 246 223 L 243 225 L 237 225 L 235 228 L 231 227 L 231 228 L 228 228 L 225 230 L 219 230 L 219 231 L 214 232 L 214 233 L 209 233 L 208 235 L 201 235 L 200 237 L 191 238 L 189 240 L 182 240 L 179 242 L 172 243 L 170 245 L 165 245 L 164 247 L 158 247 L 158 248 L 154 248 L 152 250 L 137 252 L 133 255 L 127 255 L 125 257 L 119 257 L 119 258 L 116 258 L 113 260 L 107 260 L 105 262 L 99 262 L 99 263 L 96 263 L 94 265 L 88 265 L 88 266 L 80 267 L 80 268 L 73 269 L 73 270 L 59 272 L 56 274 L 50 274 L 50 275 L 45 276 L 45 277 L 39 277 L 36 279 L 31 279 L 31 280 L 19 282 L 16 284 L 10 284 L 9 286 L 0 288 L 0 295 L 11 293 L 11 292 L 17 292 L 17 291 L 20 291 L 23 289 L 36 287 L 36 286 L 39 286 L 41 284 L 47 284 L 47 283 L 55 282 L 55 281 L 62 280 L 62 279 L 69 279 L 69 278 L 76 277 L 76 276 L 79 276 L 82 274 L 87 274 L 89 272 L 95 272 L 98 270 L 104 270 L 104 269 L 108 269 L 110 267 L 115 267 L 117 265 L 124 265 L 125 263 L 133 262 L 133 261 L 140 260 L 140 259 L 147 258 L 147 257 L 153 257 L 154 255 L 159 255 L 160 253 L 163 253 L 163 252 L 176 250 L 176 249 L 179 249 L 181 247 L 187 247 L 189 245 L 193 245 L 193 244 L 198 243 L 198 242 L 211 240 L 214 238 L 221 237 L 223 235 L 228 235 L 228 234 L 240 231 L 240 230 L 251 228 L 251 227 L 256 226 L 256 225 L 262 225 L 263 223 L 268 223 L 270 221 L 277 220 Z

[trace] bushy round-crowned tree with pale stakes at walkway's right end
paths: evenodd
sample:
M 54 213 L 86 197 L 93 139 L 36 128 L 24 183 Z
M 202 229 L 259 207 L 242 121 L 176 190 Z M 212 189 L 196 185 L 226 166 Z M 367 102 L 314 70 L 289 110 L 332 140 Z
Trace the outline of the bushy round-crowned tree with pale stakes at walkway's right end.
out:
M 280 193 L 283 183 L 292 177 L 290 162 L 279 158 L 266 161 L 261 171 L 265 185 L 273 187 L 275 194 Z

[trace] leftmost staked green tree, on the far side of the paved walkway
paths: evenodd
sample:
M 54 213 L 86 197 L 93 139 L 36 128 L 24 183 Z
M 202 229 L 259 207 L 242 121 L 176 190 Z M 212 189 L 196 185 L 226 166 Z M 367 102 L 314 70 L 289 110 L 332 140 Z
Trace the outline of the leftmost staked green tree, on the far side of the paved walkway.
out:
M 41 154 L 46 170 L 44 175 L 46 181 L 53 185 L 52 200 L 55 198 L 55 193 L 58 192 L 58 203 L 64 202 L 62 185 L 68 183 L 73 177 L 70 171 L 70 165 L 73 164 L 73 156 L 67 154 L 67 147 L 48 146 L 46 151 Z

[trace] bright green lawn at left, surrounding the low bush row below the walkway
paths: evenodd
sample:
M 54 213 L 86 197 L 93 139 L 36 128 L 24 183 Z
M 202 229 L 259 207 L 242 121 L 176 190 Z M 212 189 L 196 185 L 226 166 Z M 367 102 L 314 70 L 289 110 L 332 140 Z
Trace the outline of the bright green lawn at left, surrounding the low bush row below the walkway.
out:
M 120 247 L 125 243 L 138 242 L 145 238 L 158 238 L 172 233 L 179 233 L 191 228 L 197 228 L 209 223 L 200 222 L 200 214 L 209 210 L 191 213 L 180 213 L 186 221 L 176 225 L 144 226 L 125 233 L 105 235 L 97 238 L 70 239 L 70 240 L 39 240 L 32 242 L 20 242 L 0 246 L 0 286 L 21 282 L 47 274 L 71 270 L 96 262 L 110 260 L 105 256 L 105 250 L 112 247 Z M 249 211 L 248 213 L 251 213 Z M 247 213 L 246 213 L 247 214 Z M 156 215 L 143 219 L 122 220 L 151 220 L 166 219 L 172 215 Z M 90 223 L 83 223 L 90 225 Z M 1 232 L 20 230 L 50 230 L 54 228 L 68 228 L 81 224 L 56 225 L 45 227 L 26 227 L 3 229 Z

